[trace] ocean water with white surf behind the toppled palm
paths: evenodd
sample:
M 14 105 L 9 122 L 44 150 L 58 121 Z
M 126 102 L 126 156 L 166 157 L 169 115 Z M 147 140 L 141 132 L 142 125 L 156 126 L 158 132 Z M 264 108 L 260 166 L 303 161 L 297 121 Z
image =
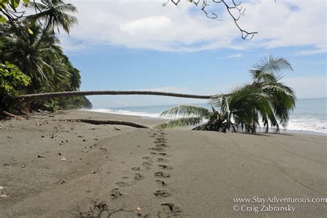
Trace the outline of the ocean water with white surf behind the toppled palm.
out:
M 327 134 L 326 103 L 327 98 L 297 99 L 295 110 L 290 115 L 286 131 L 319 132 Z M 193 103 L 193 105 L 210 108 L 206 103 Z M 159 118 L 161 112 L 173 106 L 176 105 L 95 108 L 90 111 Z

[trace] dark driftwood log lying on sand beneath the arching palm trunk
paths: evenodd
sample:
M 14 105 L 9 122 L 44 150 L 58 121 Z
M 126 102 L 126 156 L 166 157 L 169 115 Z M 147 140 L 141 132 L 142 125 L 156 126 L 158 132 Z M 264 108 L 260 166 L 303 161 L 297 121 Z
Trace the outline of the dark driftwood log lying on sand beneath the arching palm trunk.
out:
M 50 119 L 50 121 L 67 121 L 67 122 L 82 122 L 91 123 L 95 125 L 109 124 L 109 125 L 122 125 L 122 126 L 132 126 L 135 128 L 147 128 L 148 126 L 143 126 L 139 123 L 133 123 L 130 121 L 120 121 L 120 120 L 99 120 L 99 119 Z

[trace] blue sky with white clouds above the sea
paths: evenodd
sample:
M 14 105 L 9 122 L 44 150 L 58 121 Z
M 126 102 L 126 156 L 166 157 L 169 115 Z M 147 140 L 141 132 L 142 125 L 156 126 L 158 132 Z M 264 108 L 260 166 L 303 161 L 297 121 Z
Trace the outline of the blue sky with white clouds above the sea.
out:
M 188 1 L 70 0 L 79 24 L 61 32 L 61 46 L 81 71 L 81 90 L 157 90 L 197 95 L 230 92 L 250 81 L 264 57 L 285 57 L 294 71 L 281 81 L 298 98 L 326 97 L 326 1 L 246 0 L 239 25 L 258 34 L 241 39 L 221 4 L 223 21 Z M 202 103 L 145 96 L 88 97 L 94 108 Z

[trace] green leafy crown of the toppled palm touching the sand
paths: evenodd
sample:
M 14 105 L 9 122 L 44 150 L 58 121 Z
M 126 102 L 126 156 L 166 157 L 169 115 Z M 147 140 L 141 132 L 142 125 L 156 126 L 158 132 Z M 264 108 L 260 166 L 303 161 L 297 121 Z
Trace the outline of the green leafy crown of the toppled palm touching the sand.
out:
M 262 59 L 250 70 L 252 83 L 211 97 L 212 112 L 197 106 L 177 106 L 161 114 L 173 120 L 157 128 L 197 126 L 193 129 L 256 132 L 262 123 L 266 132 L 269 126 L 278 132 L 280 124 L 286 127 L 296 101 L 292 88 L 280 82 L 283 70 L 293 70 L 286 59 Z

